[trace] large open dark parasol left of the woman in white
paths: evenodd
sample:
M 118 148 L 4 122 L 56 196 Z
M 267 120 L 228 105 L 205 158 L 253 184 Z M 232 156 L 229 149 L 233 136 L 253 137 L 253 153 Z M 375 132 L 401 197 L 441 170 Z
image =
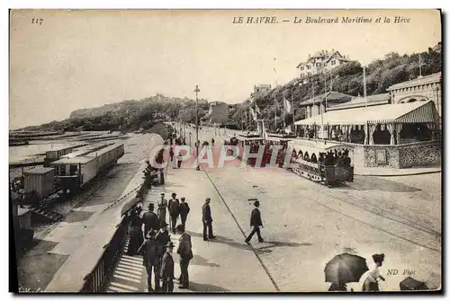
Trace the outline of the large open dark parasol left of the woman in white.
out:
M 359 282 L 367 270 L 369 268 L 364 257 L 349 253 L 339 254 L 325 266 L 325 282 L 335 284 Z

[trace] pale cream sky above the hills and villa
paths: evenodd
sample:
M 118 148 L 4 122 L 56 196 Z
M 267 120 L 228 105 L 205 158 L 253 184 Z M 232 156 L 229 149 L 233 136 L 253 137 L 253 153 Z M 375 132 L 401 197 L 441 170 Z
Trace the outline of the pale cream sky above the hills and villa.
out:
M 342 22 L 347 16 L 373 22 Z M 394 23 L 395 16 L 409 22 Z M 233 23 L 238 17 L 243 23 Z M 305 23 L 307 17 L 338 23 Z M 195 84 L 210 102 L 243 102 L 255 84 L 292 80 L 296 66 L 320 49 L 366 65 L 392 51 L 427 51 L 440 40 L 436 10 L 15 10 L 10 128 L 156 93 L 193 98 Z

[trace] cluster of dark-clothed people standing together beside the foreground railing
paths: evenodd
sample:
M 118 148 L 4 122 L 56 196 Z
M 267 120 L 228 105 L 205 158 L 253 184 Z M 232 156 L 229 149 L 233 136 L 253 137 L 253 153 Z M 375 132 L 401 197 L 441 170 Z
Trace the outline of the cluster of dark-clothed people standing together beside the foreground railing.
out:
M 161 199 L 157 202 L 157 213 L 154 210 L 155 204 L 149 203 L 148 211 L 143 214 L 140 206 L 130 211 L 130 243 L 127 254 L 143 256 L 143 264 L 148 275 L 148 292 L 172 292 L 174 290 L 175 266 L 172 253 L 175 245 L 171 241 L 169 225 L 166 223 L 166 211 L 168 210 L 170 230 L 173 234 L 180 235 L 176 251 L 180 255 L 179 288 L 189 288 L 187 268 L 189 261 L 193 259 L 193 252 L 191 236 L 184 232 L 190 211 L 189 205 L 185 202 L 185 198 L 181 198 L 181 201 L 176 199 L 175 192 L 172 193 L 172 199 L 168 201 L 165 199 L 165 194 L 161 193 Z M 181 217 L 181 224 L 176 226 L 178 217 Z M 144 232 L 142 232 L 142 226 Z M 152 288 L 152 275 L 154 275 L 154 289 Z

